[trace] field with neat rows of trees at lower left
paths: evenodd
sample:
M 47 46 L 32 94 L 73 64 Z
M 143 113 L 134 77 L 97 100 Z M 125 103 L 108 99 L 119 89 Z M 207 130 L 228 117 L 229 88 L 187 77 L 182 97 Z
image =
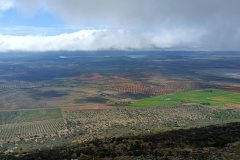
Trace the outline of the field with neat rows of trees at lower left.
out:
M 0 142 L 55 136 L 66 130 L 61 109 L 0 112 Z

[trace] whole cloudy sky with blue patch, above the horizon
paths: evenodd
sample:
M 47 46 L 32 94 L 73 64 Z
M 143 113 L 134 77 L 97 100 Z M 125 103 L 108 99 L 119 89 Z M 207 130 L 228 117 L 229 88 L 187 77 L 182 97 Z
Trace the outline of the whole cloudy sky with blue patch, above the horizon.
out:
M 240 50 L 239 0 L 0 0 L 0 52 Z

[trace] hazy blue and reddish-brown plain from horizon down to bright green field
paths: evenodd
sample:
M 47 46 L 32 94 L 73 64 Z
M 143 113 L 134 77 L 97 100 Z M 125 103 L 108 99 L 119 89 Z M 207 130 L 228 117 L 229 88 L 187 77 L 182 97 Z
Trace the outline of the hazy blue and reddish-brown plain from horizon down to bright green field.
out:
M 0 110 L 119 106 L 206 88 L 238 91 L 239 78 L 232 75 L 239 73 L 240 58 L 231 52 L 228 57 L 161 51 L 7 54 L 0 58 Z

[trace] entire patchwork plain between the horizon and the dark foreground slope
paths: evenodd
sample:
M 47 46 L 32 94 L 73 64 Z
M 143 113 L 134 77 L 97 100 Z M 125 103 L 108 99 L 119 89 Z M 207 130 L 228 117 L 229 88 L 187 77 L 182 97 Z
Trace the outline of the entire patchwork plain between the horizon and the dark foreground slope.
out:
M 106 137 L 151 136 L 240 122 L 240 56 L 224 55 L 6 54 L 0 58 L 0 157 Z M 141 146 L 134 144 L 128 147 Z M 73 154 L 72 159 L 76 157 Z

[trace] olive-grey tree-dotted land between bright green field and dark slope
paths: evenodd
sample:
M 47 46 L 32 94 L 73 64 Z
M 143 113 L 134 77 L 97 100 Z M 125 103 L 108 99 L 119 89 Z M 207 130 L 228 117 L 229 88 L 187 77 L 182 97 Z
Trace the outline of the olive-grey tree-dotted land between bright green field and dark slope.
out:
M 141 134 L 239 121 L 239 109 L 201 105 L 65 111 L 68 128 L 82 135 Z

